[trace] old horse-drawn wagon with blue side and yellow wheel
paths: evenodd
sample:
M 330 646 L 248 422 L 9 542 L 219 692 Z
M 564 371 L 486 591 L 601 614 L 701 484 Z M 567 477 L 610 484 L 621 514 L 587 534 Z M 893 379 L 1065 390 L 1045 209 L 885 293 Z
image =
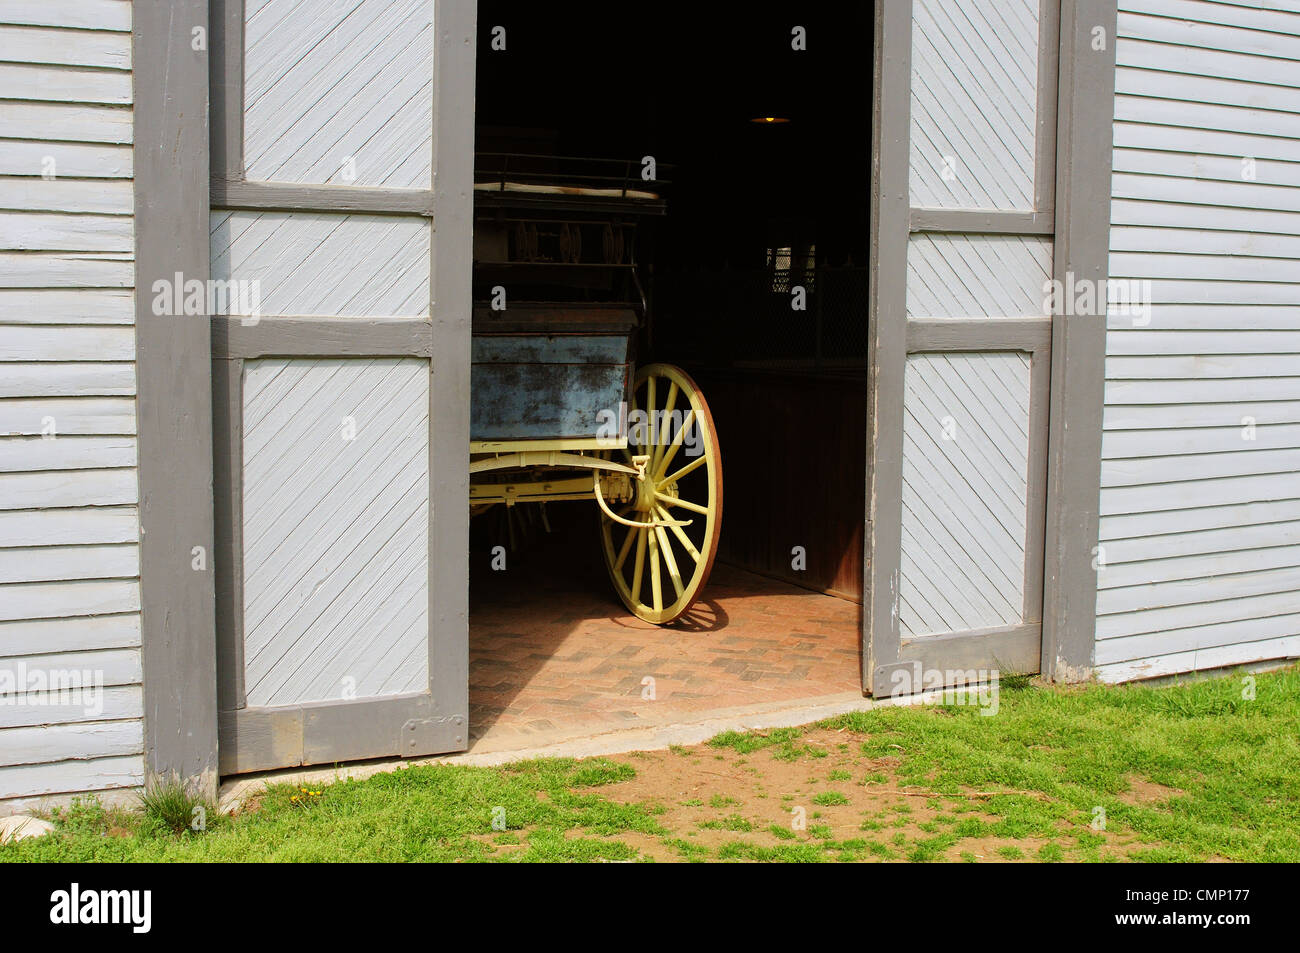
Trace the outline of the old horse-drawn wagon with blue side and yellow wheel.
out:
M 694 381 L 636 363 L 651 326 L 638 239 L 666 203 L 633 172 L 478 156 L 469 503 L 594 499 L 615 590 L 664 624 L 708 580 L 722 456 Z

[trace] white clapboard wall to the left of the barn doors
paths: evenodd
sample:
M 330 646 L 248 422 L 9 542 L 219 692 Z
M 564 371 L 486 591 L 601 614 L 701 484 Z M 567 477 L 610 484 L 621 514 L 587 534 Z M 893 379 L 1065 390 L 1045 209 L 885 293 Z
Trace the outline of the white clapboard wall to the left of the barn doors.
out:
M 143 780 L 130 69 L 129 0 L 0 5 L 0 672 L 104 685 L 3 699 L 0 814 Z

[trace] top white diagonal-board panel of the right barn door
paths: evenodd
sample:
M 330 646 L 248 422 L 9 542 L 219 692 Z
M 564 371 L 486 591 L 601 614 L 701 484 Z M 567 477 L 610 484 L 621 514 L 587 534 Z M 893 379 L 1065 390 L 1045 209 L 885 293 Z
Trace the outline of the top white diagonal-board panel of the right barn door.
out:
M 1037 0 L 916 0 L 911 204 L 1034 208 Z

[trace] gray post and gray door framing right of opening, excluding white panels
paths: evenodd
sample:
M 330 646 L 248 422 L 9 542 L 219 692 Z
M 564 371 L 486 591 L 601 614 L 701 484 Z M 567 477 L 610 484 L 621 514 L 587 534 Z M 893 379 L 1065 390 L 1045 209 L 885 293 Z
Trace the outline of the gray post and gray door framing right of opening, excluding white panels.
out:
M 1053 680 L 1092 668 L 1105 382 L 1105 317 L 909 320 L 907 242 L 919 231 L 1053 235 L 1053 277 L 1108 274 L 1117 10 L 1106 0 L 1044 0 L 1034 212 L 913 211 L 909 189 L 913 0 L 880 0 L 872 101 L 874 202 L 867 359 L 867 524 L 863 690 L 888 693 L 898 666 L 961 670 L 979 637 L 1015 667 Z M 1105 39 L 1095 48 L 1096 30 Z M 1052 42 L 1058 36 L 1058 43 Z M 1054 135 L 1052 134 L 1054 130 Z M 1105 200 L 1098 200 L 1104 196 Z M 1100 286 L 1100 283 L 1098 283 Z M 902 527 L 902 393 L 910 352 L 1034 354 L 1026 605 L 1022 625 L 932 637 L 902 650 L 897 614 Z M 1050 361 L 1048 361 L 1050 358 Z M 1034 621 L 1041 619 L 1041 624 Z M 906 684 L 906 681 L 904 683 Z

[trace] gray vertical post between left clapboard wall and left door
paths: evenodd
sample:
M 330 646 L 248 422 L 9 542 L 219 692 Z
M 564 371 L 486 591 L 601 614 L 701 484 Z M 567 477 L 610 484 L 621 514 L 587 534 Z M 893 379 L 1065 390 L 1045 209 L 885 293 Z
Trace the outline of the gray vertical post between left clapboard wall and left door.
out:
M 155 281 L 208 278 L 208 3 L 135 0 L 133 31 L 144 770 L 147 783 L 177 776 L 213 797 L 208 317 L 152 311 Z

